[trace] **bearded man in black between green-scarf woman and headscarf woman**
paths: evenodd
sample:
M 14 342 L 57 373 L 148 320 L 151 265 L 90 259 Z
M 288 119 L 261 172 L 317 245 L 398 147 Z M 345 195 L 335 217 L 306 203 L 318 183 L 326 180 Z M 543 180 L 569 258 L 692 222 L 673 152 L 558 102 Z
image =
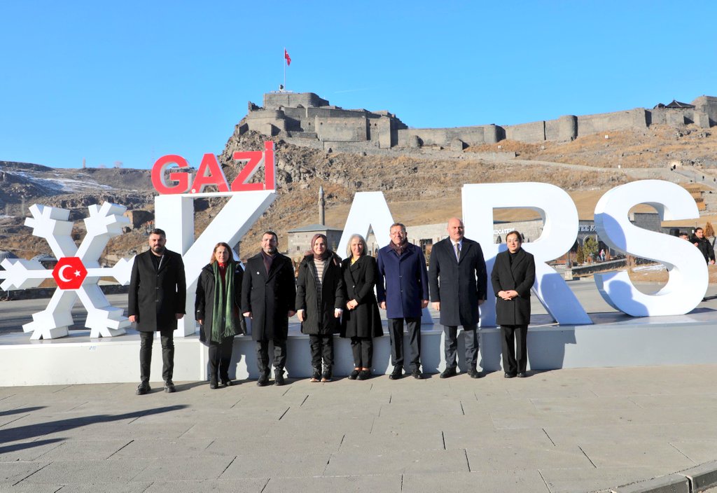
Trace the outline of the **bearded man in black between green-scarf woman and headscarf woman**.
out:
M 252 319 L 252 339 L 257 341 L 257 386 L 269 384 L 269 343 L 274 345 L 274 384 L 284 385 L 289 317 L 296 313 L 294 267 L 277 252 L 274 231 L 262 235 L 262 251 L 247 260 L 242 281 L 242 312 Z

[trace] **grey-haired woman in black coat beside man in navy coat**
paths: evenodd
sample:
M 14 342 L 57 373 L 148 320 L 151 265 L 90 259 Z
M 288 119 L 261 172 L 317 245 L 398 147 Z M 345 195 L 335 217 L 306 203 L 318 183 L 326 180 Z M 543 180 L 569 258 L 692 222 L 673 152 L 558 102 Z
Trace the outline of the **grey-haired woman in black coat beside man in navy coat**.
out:
M 374 287 L 379 279 L 376 259 L 366 255 L 366 240 L 354 234 L 346 248 L 347 259 L 341 262 L 346 286 L 346 310 L 343 310 L 341 337 L 351 338 L 353 371 L 348 378 L 366 380 L 371 377 L 374 337 L 384 335 L 379 304 Z

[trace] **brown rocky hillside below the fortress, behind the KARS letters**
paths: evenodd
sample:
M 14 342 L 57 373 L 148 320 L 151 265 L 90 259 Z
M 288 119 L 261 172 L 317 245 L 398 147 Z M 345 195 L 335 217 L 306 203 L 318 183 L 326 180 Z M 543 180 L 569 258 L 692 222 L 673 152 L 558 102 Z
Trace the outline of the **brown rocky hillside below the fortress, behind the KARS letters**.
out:
M 243 163 L 231 156 L 235 150 L 259 150 L 268 138 L 258 133 L 239 135 L 235 131 L 219 155 L 229 181 Z M 396 149 L 394 155 L 330 153 L 298 147 L 272 138 L 276 148 L 279 198 L 242 240 L 242 257 L 258 250 L 258 234 L 275 229 L 285 245 L 286 231 L 318 222 L 318 188 L 326 191 L 326 221 L 341 227 L 353 194 L 383 191 L 394 218 L 406 224 L 429 224 L 460 215 L 460 189 L 464 183 L 543 181 L 553 183 L 573 196 L 583 219 L 592 218 L 599 196 L 621 183 L 641 178 L 660 178 L 688 187 L 706 204 L 700 221 L 712 220 L 717 211 L 717 136 L 711 130 L 688 125 L 683 129 L 652 125 L 640 131 L 587 135 L 568 143 L 531 145 L 503 140 L 498 144 L 468 148 L 464 153 L 424 154 Z M 516 157 L 484 160 L 486 152 L 511 151 Z M 673 166 L 675 167 L 673 170 Z M 255 179 L 262 179 L 257 173 Z M 81 219 L 87 206 L 103 201 L 126 206 L 130 211 L 147 211 L 137 217 L 151 220 L 154 191 L 149 170 L 129 168 L 54 169 L 29 163 L 0 161 L 0 249 L 31 258 L 49 253 L 44 240 L 23 226 L 27 207 L 47 204 L 70 209 L 75 219 L 75 239 L 84 235 Z M 224 199 L 197 200 L 198 231 L 217 213 Z M 526 219 L 531 211 L 501 213 L 499 219 Z M 695 221 L 698 222 L 698 221 Z M 702 224 L 702 222 L 700 222 Z M 133 229 L 113 239 L 105 254 L 108 259 L 127 257 L 146 244 L 151 223 L 134 224 Z M 281 245 L 280 245 L 281 246 Z

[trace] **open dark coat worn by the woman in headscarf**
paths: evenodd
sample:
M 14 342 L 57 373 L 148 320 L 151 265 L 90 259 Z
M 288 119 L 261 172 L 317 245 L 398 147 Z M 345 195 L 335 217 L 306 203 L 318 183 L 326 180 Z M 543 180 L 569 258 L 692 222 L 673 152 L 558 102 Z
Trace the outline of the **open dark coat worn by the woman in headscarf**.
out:
M 328 335 L 338 332 L 339 320 L 333 316 L 336 308 L 343 306 L 343 278 L 341 259 L 331 254 L 323 269 L 321 281 L 321 306 L 316 292 L 316 267 L 313 254 L 307 255 L 299 264 L 296 277 L 296 310 L 305 310 L 301 332 L 308 335 Z

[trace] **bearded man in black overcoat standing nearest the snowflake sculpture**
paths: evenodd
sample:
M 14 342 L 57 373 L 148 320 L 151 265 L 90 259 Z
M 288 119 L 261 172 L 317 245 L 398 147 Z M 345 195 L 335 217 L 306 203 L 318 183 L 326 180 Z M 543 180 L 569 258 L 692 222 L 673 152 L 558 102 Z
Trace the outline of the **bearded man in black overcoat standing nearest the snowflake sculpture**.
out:
M 143 396 L 149 386 L 154 332 L 162 342 L 162 378 L 164 391 L 174 392 L 174 330 L 186 313 L 186 279 L 181 255 L 164 247 L 166 234 L 153 229 L 149 250 L 135 257 L 130 278 L 128 315 L 140 334 L 139 365 L 141 382 L 136 394 Z

